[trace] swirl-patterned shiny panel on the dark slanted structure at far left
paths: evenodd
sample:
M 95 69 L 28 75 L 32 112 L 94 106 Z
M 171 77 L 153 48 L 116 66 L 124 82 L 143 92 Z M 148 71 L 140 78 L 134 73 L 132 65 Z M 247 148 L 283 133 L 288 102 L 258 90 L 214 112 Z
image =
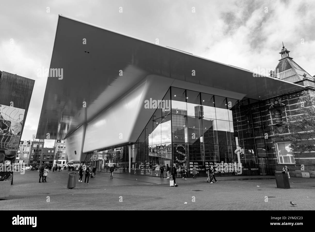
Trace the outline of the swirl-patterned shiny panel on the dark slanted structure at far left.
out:
M 0 181 L 11 179 L 8 166 L 15 163 L 24 113 L 23 109 L 0 104 Z

